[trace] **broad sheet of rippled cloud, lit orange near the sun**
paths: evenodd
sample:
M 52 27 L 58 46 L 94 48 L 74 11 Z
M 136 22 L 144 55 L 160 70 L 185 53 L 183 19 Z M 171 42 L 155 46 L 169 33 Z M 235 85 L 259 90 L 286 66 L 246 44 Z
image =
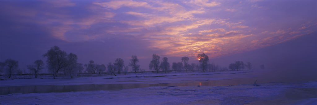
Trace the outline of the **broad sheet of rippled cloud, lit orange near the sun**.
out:
M 4 14 L 1 19 L 42 27 L 55 39 L 79 43 L 134 38 L 147 45 L 144 49 L 164 50 L 161 55 L 170 56 L 236 54 L 296 38 L 298 33 L 314 31 L 317 23 L 307 19 L 312 17 L 310 14 L 288 13 L 284 9 L 292 8 L 280 8 L 283 5 L 270 1 L 261 3 L 268 9 L 254 9 L 260 8 L 257 2 L 208 0 L 47 1 L 22 6 L 6 2 L 10 1 L 0 4 L 0 13 Z M 298 9 L 305 11 L 303 8 Z M 270 12 L 272 9 L 276 12 Z M 295 15 L 298 18 L 288 17 Z M 294 19 L 301 21 L 286 21 Z M 21 27 L 16 25 L 14 29 Z

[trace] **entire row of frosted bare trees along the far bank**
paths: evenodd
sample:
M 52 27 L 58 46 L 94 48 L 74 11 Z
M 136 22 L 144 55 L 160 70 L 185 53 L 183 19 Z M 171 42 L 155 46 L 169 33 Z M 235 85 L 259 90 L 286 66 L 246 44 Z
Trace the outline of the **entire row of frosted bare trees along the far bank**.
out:
M 47 58 L 46 60 L 46 68 L 55 78 L 58 73 L 63 72 L 64 75 L 70 76 L 71 78 L 77 77 L 77 74 L 81 74 L 85 71 L 90 74 L 99 75 L 103 72 L 110 73 L 111 75 L 116 74 L 126 74 L 128 73 L 129 68 L 132 69 L 132 72 L 137 73 L 139 70 L 145 71 L 144 69 L 140 69 L 140 65 L 138 64 L 139 59 L 136 55 L 131 56 L 129 65 L 125 66 L 124 60 L 121 58 L 117 58 L 115 62 L 108 62 L 107 66 L 104 64 L 96 64 L 93 60 L 90 60 L 87 64 L 78 63 L 78 57 L 76 54 L 69 53 L 61 50 L 58 46 L 51 47 L 47 53 L 42 55 L 42 57 Z M 172 65 L 168 62 L 167 57 L 163 57 L 162 61 L 160 61 L 160 56 L 157 54 L 152 55 L 152 61 L 149 63 L 149 69 L 155 70 L 157 73 L 159 72 L 206 72 L 206 71 L 219 71 L 219 70 L 227 70 L 226 67 L 218 66 L 214 63 L 209 63 L 209 57 L 206 54 L 198 54 L 197 59 L 199 61 L 198 64 L 191 63 L 189 64 L 189 58 L 184 56 L 180 60 L 181 62 L 172 62 Z M 18 61 L 12 59 L 6 59 L 4 62 L 0 62 L 0 72 L 5 71 L 9 78 L 14 72 L 21 72 L 18 69 Z M 85 68 L 84 68 L 85 67 Z M 229 69 L 231 70 L 243 70 L 247 67 L 251 70 L 252 65 L 250 62 L 244 64 L 242 61 L 236 61 L 235 63 L 229 64 Z M 264 65 L 260 66 L 261 69 L 264 69 Z M 27 65 L 27 68 L 35 74 L 37 77 L 39 71 L 45 69 L 44 62 L 42 60 L 36 60 L 31 65 Z

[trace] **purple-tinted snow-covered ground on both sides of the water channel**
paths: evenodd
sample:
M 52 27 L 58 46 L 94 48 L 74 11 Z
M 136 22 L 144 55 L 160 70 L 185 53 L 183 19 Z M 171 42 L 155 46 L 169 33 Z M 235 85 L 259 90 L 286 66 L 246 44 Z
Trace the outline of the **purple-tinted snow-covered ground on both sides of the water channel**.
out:
M 62 93 L 29 93 L 0 95 L 3 105 L 33 104 L 102 104 L 102 105 L 317 105 L 317 81 L 284 82 L 268 79 L 272 71 L 228 71 L 207 73 L 128 74 L 119 76 L 80 77 L 69 79 L 35 78 L 0 81 L 1 87 L 28 85 L 79 86 L 88 84 L 164 84 L 145 88 L 74 91 Z M 166 76 L 165 76 L 166 75 Z M 157 77 L 156 77 L 157 76 Z M 274 77 L 274 76 L 272 76 Z M 255 79 L 261 86 L 253 86 Z M 262 79 L 266 79 L 265 81 Z M 280 82 L 282 81 L 282 82 Z M 221 82 L 221 83 L 220 83 Z M 238 85 L 236 85 L 238 84 Z M 178 85 L 178 86 L 168 86 Z M 199 86 L 197 86 L 199 85 Z M 210 86 L 201 86 L 210 85 Z M 121 87 L 122 88 L 122 87 Z

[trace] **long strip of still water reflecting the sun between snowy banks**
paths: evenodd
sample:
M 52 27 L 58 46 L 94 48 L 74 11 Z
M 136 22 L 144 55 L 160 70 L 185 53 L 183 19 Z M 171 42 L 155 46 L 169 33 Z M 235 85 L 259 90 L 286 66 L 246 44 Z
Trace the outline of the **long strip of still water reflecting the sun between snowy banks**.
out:
M 253 84 L 255 80 L 258 83 L 268 82 L 301 82 L 317 81 L 317 75 L 314 73 L 296 73 L 296 72 L 266 72 L 254 73 L 250 75 L 261 75 L 254 78 L 236 78 L 229 80 L 211 80 L 208 82 L 191 82 L 191 83 L 159 83 L 159 84 L 86 84 L 86 85 L 34 85 L 34 86 L 10 86 L 0 87 L 0 95 L 11 93 L 50 93 L 50 92 L 71 92 L 71 91 L 94 91 L 94 90 L 114 90 L 114 89 L 132 89 L 145 88 L 152 86 L 226 86 L 238 84 Z

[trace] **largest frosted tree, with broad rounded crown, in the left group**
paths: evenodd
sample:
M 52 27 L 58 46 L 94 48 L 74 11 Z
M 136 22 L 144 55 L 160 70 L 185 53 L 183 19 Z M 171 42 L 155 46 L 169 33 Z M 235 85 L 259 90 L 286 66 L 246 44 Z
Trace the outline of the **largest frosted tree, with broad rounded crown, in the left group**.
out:
M 53 74 L 54 79 L 59 70 L 64 69 L 68 65 L 66 52 L 62 51 L 58 46 L 51 47 L 43 57 L 47 57 L 47 67 Z

